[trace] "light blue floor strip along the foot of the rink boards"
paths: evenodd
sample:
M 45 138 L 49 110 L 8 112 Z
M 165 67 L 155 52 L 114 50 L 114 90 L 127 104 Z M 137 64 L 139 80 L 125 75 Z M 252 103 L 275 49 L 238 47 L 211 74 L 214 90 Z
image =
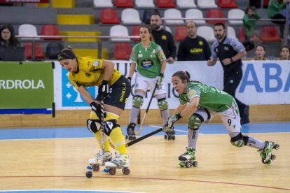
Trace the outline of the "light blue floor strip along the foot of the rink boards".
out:
M 141 136 L 159 129 L 159 125 L 146 125 L 141 131 Z M 123 134 L 127 134 L 126 127 L 121 127 Z M 177 124 L 174 126 L 177 135 L 186 135 L 186 125 Z M 139 129 L 139 127 L 137 127 Z M 250 123 L 242 126 L 242 133 L 289 133 L 290 122 L 278 123 Z M 203 124 L 200 127 L 200 134 L 227 134 L 223 124 Z M 163 136 L 160 132 L 157 136 Z M 0 140 L 34 139 L 34 138 L 88 138 L 93 135 L 86 127 L 53 127 L 33 129 L 0 129 Z

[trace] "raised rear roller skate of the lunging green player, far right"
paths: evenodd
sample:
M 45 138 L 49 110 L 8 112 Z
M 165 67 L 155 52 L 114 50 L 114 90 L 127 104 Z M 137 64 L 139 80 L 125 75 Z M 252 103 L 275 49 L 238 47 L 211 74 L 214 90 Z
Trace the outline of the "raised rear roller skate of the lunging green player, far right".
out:
M 262 163 L 271 164 L 271 160 L 274 161 L 276 159 L 276 156 L 272 154 L 272 150 L 278 150 L 279 147 L 279 144 L 275 144 L 272 141 L 265 141 L 265 147 L 263 148 L 263 150 L 258 150 L 262 158 Z

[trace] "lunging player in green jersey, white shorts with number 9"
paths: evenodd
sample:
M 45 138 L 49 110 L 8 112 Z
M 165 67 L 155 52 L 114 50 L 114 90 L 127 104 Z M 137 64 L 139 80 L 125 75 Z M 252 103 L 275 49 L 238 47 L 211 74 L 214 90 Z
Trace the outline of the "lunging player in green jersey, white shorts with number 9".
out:
M 271 141 L 259 141 L 241 133 L 239 108 L 230 94 L 209 87 L 198 81 L 190 80 L 187 71 L 177 71 L 172 76 L 174 90 L 179 94 L 180 104 L 174 115 L 168 118 L 163 125 L 163 131 L 170 131 L 174 122 L 181 117 L 188 117 L 188 147 L 186 152 L 179 156 L 181 167 L 197 166 L 195 148 L 198 140 L 198 129 L 202 122 L 209 122 L 212 116 L 219 115 L 230 136 L 230 143 L 236 147 L 247 145 L 258 149 L 263 164 L 270 164 L 275 159 L 272 149 L 279 145 Z

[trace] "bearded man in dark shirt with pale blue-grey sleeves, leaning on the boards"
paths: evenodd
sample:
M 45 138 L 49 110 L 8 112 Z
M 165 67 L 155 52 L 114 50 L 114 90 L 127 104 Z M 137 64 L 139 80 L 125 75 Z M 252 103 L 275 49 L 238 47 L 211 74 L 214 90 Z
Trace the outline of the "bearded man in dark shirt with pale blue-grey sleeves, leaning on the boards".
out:
M 249 123 L 249 106 L 235 97 L 235 90 L 242 80 L 242 57 L 247 52 L 242 43 L 226 36 L 223 23 L 214 24 L 214 36 L 216 41 L 212 44 L 212 59 L 207 61 L 207 65 L 214 66 L 219 58 L 224 71 L 223 91 L 235 98 L 240 110 L 241 124 Z

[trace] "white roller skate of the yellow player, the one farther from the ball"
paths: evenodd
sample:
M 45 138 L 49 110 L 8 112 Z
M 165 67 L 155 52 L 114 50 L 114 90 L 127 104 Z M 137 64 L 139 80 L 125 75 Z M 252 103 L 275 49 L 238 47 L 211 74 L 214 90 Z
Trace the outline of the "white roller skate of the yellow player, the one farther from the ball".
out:
M 116 169 L 122 169 L 122 172 L 125 175 L 130 173 L 129 169 L 129 157 L 127 154 L 120 155 L 119 152 L 116 152 L 115 159 L 105 163 L 106 169 L 104 172 L 110 173 L 111 175 L 116 174 Z

